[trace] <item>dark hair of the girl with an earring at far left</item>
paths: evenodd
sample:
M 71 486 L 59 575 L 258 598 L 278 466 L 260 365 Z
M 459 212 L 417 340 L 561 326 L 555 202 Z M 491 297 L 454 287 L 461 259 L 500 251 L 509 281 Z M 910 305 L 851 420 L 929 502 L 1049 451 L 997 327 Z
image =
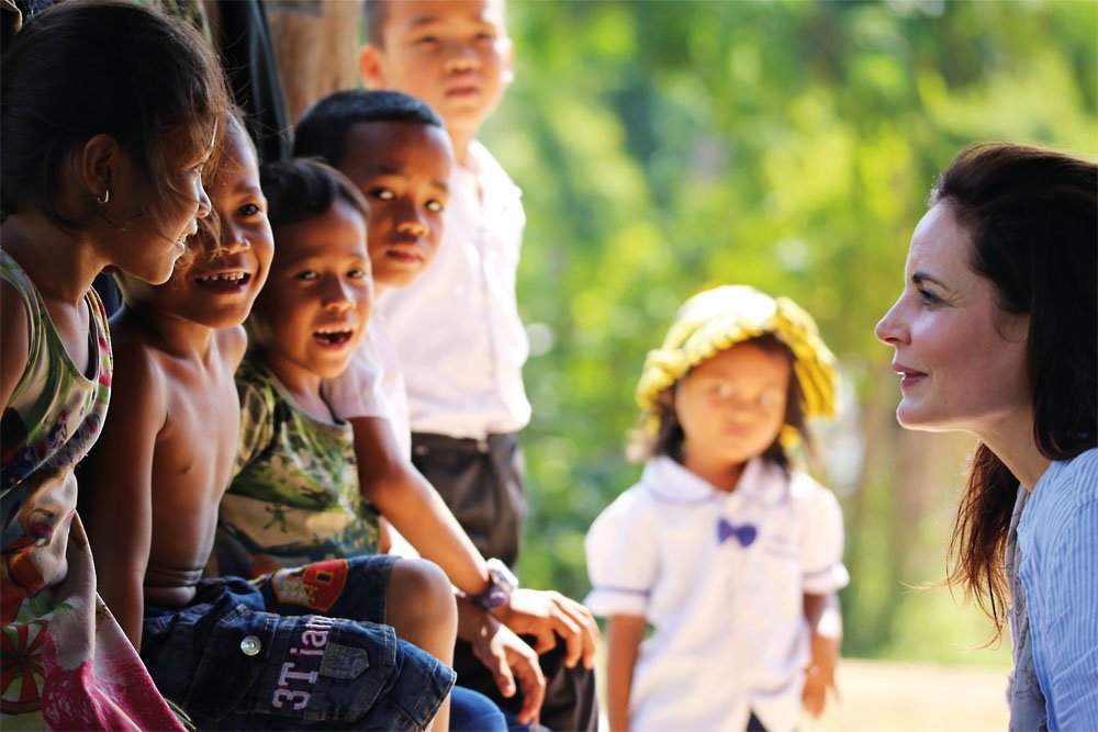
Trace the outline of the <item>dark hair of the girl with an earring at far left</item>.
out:
M 117 140 L 144 177 L 159 223 L 180 196 L 165 142 L 198 159 L 229 103 L 221 67 L 194 30 L 125 0 L 66 0 L 34 15 L 0 64 L 0 206 L 30 207 L 65 228 L 60 177 L 90 138 Z M 175 140 L 172 140 L 175 142 Z

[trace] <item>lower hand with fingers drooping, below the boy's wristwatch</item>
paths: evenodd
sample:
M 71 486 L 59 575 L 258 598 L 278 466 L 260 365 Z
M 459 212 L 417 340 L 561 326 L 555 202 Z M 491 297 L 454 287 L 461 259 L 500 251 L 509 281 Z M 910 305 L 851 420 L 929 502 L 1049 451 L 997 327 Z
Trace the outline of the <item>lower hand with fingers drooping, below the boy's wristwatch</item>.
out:
M 484 613 L 484 622 L 472 639 L 472 647 L 477 658 L 492 672 L 495 685 L 504 697 L 509 699 L 515 696 L 515 682 L 518 682 L 523 690 L 519 723 L 536 722 L 546 696 L 546 677 L 534 649 L 489 613 Z

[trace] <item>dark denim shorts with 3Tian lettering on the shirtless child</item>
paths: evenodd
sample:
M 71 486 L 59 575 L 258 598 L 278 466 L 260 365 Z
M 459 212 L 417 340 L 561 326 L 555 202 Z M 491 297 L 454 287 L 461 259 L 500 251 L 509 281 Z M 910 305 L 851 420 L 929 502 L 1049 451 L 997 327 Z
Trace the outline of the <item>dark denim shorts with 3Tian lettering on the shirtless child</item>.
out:
M 423 730 L 456 675 L 382 624 L 394 562 L 203 579 L 186 607 L 145 607 L 142 660 L 200 729 Z

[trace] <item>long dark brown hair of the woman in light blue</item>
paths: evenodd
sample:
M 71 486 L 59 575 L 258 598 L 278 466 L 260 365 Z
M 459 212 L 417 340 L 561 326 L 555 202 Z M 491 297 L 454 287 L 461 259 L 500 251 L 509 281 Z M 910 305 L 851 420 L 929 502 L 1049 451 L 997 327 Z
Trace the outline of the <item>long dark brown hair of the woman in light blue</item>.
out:
M 1029 315 L 1033 440 L 1050 460 L 1098 444 L 1098 165 L 1004 143 L 973 145 L 938 180 L 998 306 Z M 950 542 L 946 582 L 1002 629 L 1004 556 L 1018 478 L 977 443 Z M 1028 486 L 1033 487 L 1033 486 Z

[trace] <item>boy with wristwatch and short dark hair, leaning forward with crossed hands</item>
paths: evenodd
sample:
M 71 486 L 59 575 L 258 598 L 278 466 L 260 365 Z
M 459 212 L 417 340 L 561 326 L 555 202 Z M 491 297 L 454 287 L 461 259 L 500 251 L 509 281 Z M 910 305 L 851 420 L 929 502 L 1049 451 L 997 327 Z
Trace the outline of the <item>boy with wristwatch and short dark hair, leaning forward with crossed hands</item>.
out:
M 449 148 L 435 113 L 422 101 L 393 91 L 336 92 L 317 102 L 299 122 L 295 154 L 325 158 L 346 173 L 369 202 L 369 251 L 379 294 L 405 288 L 434 267 L 444 211 L 452 200 Z M 325 385 L 325 397 L 336 415 L 354 426 L 359 477 L 363 486 L 373 486 L 371 499 L 475 603 L 477 596 L 485 595 L 489 572 L 461 528 L 450 526 L 453 518 L 446 507 L 441 511 L 434 507 L 440 499 L 408 462 L 410 427 L 401 362 L 386 325 L 384 315 L 374 312 L 351 369 Z M 432 320 L 427 327 L 438 326 Z M 498 608 L 493 605 L 488 616 L 484 605 L 477 610 L 459 601 L 458 607 L 458 635 L 471 642 L 459 644 L 459 649 L 475 655 L 461 672 L 461 685 L 490 694 L 520 722 L 536 717 L 545 682 L 535 682 L 530 674 L 542 678 L 539 660 L 513 635 L 501 645 L 507 634 L 497 634 L 498 620 L 523 633 L 538 651 L 549 651 L 540 663 L 548 666 L 550 687 L 558 689 L 557 709 L 568 713 L 574 713 L 571 706 L 582 709 L 584 699 L 561 695 L 559 689 L 573 689 L 576 679 L 590 678 L 582 666 L 593 663 L 597 628 L 583 606 L 559 593 L 517 589 L 509 601 Z M 550 651 L 554 644 L 559 650 Z M 564 669 L 562 662 L 576 667 Z M 506 702 L 502 701 L 504 695 Z M 574 717 L 561 722 L 559 714 L 556 724 L 573 723 Z

